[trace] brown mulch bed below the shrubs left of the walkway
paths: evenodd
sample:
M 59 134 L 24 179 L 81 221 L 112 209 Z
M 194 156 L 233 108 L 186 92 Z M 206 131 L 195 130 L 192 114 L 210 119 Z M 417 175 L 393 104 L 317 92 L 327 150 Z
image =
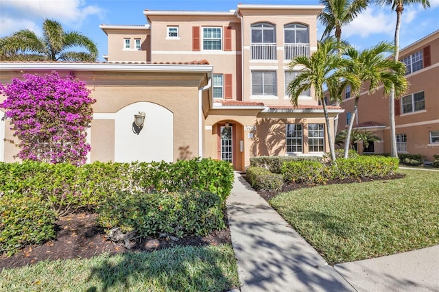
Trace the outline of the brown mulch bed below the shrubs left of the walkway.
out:
M 176 245 L 219 245 L 231 243 L 228 228 L 212 232 L 208 236 L 186 236 L 178 241 L 169 236 L 138 239 L 134 247 L 128 250 L 123 244 L 106 239 L 105 232 L 96 223 L 96 214 L 81 213 L 63 217 L 56 222 L 56 239 L 42 245 L 29 245 L 13 256 L 0 256 L 0 271 L 3 268 L 23 267 L 40 260 L 58 260 L 67 258 L 91 258 L 104 252 L 152 252 Z

